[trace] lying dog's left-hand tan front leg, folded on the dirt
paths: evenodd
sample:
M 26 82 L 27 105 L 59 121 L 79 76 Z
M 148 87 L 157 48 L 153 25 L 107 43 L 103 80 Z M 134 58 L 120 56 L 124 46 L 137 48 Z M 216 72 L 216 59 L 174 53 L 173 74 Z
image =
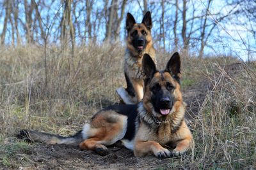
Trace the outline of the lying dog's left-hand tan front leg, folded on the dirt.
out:
M 156 157 L 170 157 L 171 152 L 154 141 L 137 141 L 134 145 L 134 155 L 143 157 L 148 153 L 154 153 Z

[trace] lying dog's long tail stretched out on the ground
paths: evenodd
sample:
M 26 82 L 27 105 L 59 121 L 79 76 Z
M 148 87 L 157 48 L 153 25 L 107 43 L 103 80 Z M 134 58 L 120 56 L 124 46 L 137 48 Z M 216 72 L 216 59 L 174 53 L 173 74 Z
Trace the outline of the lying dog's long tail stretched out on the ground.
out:
M 36 132 L 31 130 L 21 130 L 17 138 L 25 139 L 28 142 L 38 142 L 45 144 L 64 144 L 70 146 L 78 146 L 83 141 L 82 131 L 77 132 L 73 136 L 63 137 L 45 132 Z

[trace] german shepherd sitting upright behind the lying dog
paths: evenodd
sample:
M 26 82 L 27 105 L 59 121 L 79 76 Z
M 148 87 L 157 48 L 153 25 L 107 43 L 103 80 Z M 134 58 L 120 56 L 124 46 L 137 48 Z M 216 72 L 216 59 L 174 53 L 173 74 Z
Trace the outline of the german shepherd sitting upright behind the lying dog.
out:
M 137 104 L 143 98 L 143 71 L 141 62 L 147 53 L 155 60 L 155 49 L 151 36 L 152 19 L 150 11 L 145 13 L 141 24 L 137 24 L 131 13 L 127 13 L 127 50 L 125 52 L 124 74 L 127 88 L 120 87 L 116 93 L 125 104 Z

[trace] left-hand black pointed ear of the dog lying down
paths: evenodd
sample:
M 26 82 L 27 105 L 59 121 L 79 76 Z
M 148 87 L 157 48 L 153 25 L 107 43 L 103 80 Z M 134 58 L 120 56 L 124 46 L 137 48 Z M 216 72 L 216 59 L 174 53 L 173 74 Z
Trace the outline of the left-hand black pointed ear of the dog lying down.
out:
M 142 68 L 147 80 L 151 79 L 154 73 L 157 72 L 154 60 L 147 53 L 143 55 Z

